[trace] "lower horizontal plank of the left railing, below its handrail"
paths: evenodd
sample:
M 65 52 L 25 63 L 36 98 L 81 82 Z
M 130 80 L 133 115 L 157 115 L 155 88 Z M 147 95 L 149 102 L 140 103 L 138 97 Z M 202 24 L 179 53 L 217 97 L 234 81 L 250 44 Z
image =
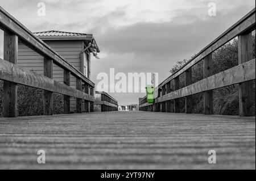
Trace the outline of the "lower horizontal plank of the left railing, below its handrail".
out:
M 33 71 L 20 68 L 15 64 L 11 64 L 8 61 L 2 60 L 1 58 L 0 65 L 0 79 L 3 81 L 14 82 L 42 90 L 57 92 L 59 94 L 69 95 L 92 102 L 94 101 L 94 96 L 85 94 L 82 91 L 64 85 L 63 83 L 54 81 L 51 78 L 36 74 Z

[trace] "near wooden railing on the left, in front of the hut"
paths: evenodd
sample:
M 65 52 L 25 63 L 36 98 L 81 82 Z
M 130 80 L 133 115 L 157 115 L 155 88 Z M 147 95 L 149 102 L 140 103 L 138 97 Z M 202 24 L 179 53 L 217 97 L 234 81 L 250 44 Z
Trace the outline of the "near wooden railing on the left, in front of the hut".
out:
M 64 113 L 70 113 L 70 97 L 76 98 L 76 110 L 85 107 L 93 111 L 94 83 L 69 64 L 42 40 L 0 7 L 0 28 L 4 31 L 3 59 L 0 59 L 0 79 L 3 80 L 3 116 L 18 116 L 17 89 L 25 85 L 44 90 L 44 115 L 53 113 L 53 92 L 64 94 Z M 17 66 L 18 41 L 44 57 L 44 76 Z M 53 63 L 64 69 L 64 84 L 52 79 Z M 71 74 L 76 77 L 76 89 L 70 86 Z M 82 86 L 85 87 L 84 92 Z

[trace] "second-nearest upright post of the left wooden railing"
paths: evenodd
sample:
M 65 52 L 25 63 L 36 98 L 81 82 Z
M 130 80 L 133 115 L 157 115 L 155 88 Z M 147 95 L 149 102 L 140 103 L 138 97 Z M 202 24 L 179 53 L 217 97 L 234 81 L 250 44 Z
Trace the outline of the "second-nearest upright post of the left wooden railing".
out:
M 44 57 L 44 76 L 53 78 L 53 60 Z M 44 90 L 44 115 L 53 115 L 53 92 Z

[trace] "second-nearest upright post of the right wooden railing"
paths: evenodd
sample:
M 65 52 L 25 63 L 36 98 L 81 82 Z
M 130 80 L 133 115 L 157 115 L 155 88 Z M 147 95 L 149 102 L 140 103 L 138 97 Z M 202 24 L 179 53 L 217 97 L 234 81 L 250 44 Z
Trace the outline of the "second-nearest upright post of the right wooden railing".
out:
M 206 56 L 203 60 L 203 72 L 204 78 L 210 77 L 212 75 L 212 53 Z M 212 90 L 204 92 L 204 114 L 212 115 L 213 114 L 213 92 Z

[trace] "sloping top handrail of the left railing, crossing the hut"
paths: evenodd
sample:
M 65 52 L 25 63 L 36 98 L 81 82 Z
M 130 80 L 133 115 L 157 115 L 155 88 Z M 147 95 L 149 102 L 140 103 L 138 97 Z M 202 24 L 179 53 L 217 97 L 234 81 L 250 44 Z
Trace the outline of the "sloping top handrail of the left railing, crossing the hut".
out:
M 0 7 L 0 28 L 5 31 L 10 31 L 19 37 L 29 48 L 35 50 L 44 57 L 52 59 L 55 64 L 63 69 L 71 71 L 75 77 L 81 78 L 82 81 L 89 83 L 94 87 L 94 83 L 86 78 L 79 70 L 73 67 L 69 62 L 67 62 L 63 57 L 61 57 L 55 50 L 51 49 L 46 43 L 40 40 L 29 31 L 23 24 L 19 23 L 13 16 L 6 12 L 2 7 Z

